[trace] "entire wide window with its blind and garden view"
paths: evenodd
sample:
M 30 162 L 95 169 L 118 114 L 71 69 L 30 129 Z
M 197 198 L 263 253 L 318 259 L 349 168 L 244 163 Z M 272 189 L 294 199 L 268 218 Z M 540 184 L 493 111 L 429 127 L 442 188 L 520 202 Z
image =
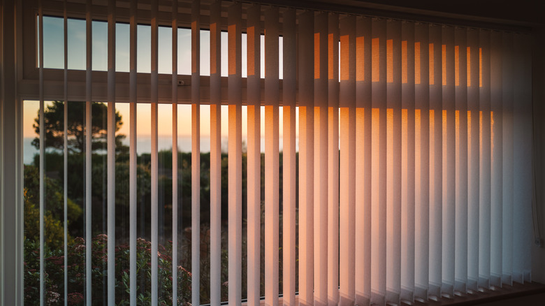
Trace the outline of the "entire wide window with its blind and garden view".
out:
M 528 34 L 80 2 L 22 13 L 24 303 L 385 305 L 531 281 Z

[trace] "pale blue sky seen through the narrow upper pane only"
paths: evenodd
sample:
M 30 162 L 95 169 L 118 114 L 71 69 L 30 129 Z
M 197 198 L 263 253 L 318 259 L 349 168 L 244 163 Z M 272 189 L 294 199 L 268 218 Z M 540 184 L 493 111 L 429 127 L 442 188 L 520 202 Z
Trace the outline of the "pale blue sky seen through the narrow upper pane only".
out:
M 108 24 L 92 22 L 92 68 L 106 71 L 108 66 Z M 59 17 L 43 17 L 43 62 L 45 68 L 64 68 L 64 20 Z M 85 70 L 86 40 L 85 20 L 68 20 L 68 69 Z M 159 73 L 172 72 L 172 28 L 159 27 Z M 151 27 L 137 27 L 137 71 L 151 71 Z M 221 32 L 221 75 L 227 76 L 227 33 Z M 115 65 L 116 71 L 129 72 L 129 24 L 116 24 Z M 261 36 L 261 50 L 265 38 Z M 279 78 L 282 79 L 282 37 L 279 37 Z M 178 29 L 178 73 L 191 74 L 191 30 Z M 247 75 L 246 34 L 242 34 L 242 77 Z M 261 78 L 265 77 L 265 57 L 261 52 Z M 201 75 L 210 75 L 210 32 L 201 31 Z

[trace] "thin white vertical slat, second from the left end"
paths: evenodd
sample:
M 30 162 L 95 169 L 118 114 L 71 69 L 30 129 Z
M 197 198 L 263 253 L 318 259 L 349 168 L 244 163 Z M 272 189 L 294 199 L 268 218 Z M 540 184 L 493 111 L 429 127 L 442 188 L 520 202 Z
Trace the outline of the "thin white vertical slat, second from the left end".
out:
M 64 305 L 68 305 L 68 17 L 66 16 L 66 0 L 63 2 L 64 15 Z

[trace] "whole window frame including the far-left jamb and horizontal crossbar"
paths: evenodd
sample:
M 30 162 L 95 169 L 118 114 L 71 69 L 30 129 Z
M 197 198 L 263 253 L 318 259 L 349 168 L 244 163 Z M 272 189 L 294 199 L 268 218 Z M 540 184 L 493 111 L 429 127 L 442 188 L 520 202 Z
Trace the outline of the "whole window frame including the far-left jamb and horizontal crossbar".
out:
M 9 3 L 10 1 L 8 1 Z M 60 1 L 54 1 L 57 3 L 60 3 Z M 2 261 L 6 263 L 12 263 L 15 262 L 15 279 L 16 284 L 15 286 L 15 295 L 13 299 L 10 297 L 10 295 L 3 294 L 4 291 L 7 291 L 6 286 L 1 286 L 0 288 L 0 296 L 6 297 L 6 300 L 3 300 L 6 302 L 6 304 L 16 304 L 10 303 L 9 301 L 20 301 L 22 300 L 23 295 L 23 273 L 22 273 L 22 241 L 14 241 L 13 239 L 5 240 L 6 237 L 6 228 L 15 229 L 13 231 L 16 235 L 16 237 L 22 238 L 23 232 L 22 232 L 22 101 L 27 99 L 39 99 L 39 81 L 38 81 L 38 68 L 36 68 L 36 56 L 35 54 L 32 54 L 32 52 L 35 52 L 36 50 L 36 24 L 34 23 L 28 23 L 25 22 L 27 18 L 33 18 L 34 21 L 36 21 L 36 12 L 37 12 L 37 1 L 34 0 L 31 3 L 25 3 L 30 4 L 28 6 L 22 6 L 22 0 L 17 0 L 15 3 L 13 3 L 13 8 L 16 7 L 23 7 L 22 10 L 15 10 L 17 11 L 16 15 L 13 15 L 10 19 L 5 18 L 6 15 L 2 15 L 2 24 L 16 24 L 15 31 L 11 31 L 13 34 L 13 37 L 11 34 L 6 35 L 10 31 L 2 31 L 2 39 L 1 39 L 1 46 L 2 48 L 0 57 L 2 64 L 8 64 L 8 66 L 2 65 L 2 68 L 4 71 L 8 71 L 8 73 L 11 73 L 13 71 L 14 75 L 17 75 L 17 78 L 13 78 L 13 80 L 9 80 L 9 78 L 5 78 L 2 81 L 3 87 L 6 89 L 3 91 L 2 94 L 2 108 L 0 108 L 0 116 L 2 118 L 9 117 L 10 115 L 15 115 L 13 117 L 13 122 L 3 122 L 2 128 L 6 129 L 6 126 L 9 127 L 15 127 L 15 130 L 12 132 L 13 137 L 6 137 L 4 136 L 4 133 L 2 131 L 1 135 L 1 159 L 2 168 L 0 169 L 2 172 L 2 181 L 3 183 L 0 184 L 0 194 L 2 196 L 2 214 L 5 216 L 6 214 L 6 207 L 8 207 L 9 204 L 5 204 L 4 201 L 7 198 L 15 198 L 15 207 L 12 208 L 12 210 L 15 212 L 15 219 L 13 219 L 13 222 L 6 222 L 6 220 L 9 220 L 9 218 L 2 217 L 2 224 L 1 224 L 1 236 L 2 236 L 2 247 L 0 256 Z M 45 1 L 44 3 L 44 15 L 58 15 L 59 10 L 54 9 L 54 5 L 52 4 L 53 1 Z M 10 9 L 10 6 L 0 6 L 0 13 L 1 10 Z M 85 5 L 78 4 L 78 3 L 71 3 L 69 6 L 70 10 L 68 10 L 68 16 L 69 17 L 82 17 L 82 11 L 85 12 Z M 79 10 L 79 13 L 78 13 Z M 106 20 L 106 6 L 93 6 L 93 20 Z M 181 8 L 180 9 L 182 15 L 180 16 L 188 16 L 187 20 L 189 20 L 189 15 L 186 13 L 187 8 Z M 117 19 L 123 20 L 126 18 L 126 12 L 128 12 L 128 8 L 118 8 L 117 10 Z M 142 17 L 146 14 L 149 15 L 149 12 L 147 12 L 145 9 L 139 9 L 138 15 L 140 16 L 140 20 L 145 20 L 145 17 Z M 168 20 L 165 16 L 168 14 L 165 12 L 160 12 L 159 17 L 160 21 L 159 24 L 165 25 L 168 27 L 168 22 L 163 22 L 163 20 Z M 161 18 L 164 17 L 164 18 Z M 203 16 L 203 24 L 207 24 L 207 20 L 205 19 L 206 16 Z M 10 22 L 11 21 L 11 22 Z M 15 21 L 15 22 L 13 22 Z M 31 27 L 31 24 L 34 24 L 34 27 Z M 3 29 L 6 29 L 6 27 L 3 27 Z M 22 63 L 11 63 L 9 64 L 9 61 L 5 58 L 8 57 L 10 54 L 9 52 L 4 52 L 4 50 L 9 50 L 11 45 L 9 45 L 11 42 L 13 42 L 13 49 L 14 51 L 14 57 L 22 59 Z M 15 47 L 16 46 L 16 47 Z M 34 46 L 34 47 L 32 47 Z M 29 48 L 30 47 L 30 48 Z M 68 80 L 68 100 L 70 101 L 85 101 L 85 71 L 68 71 L 68 75 L 70 76 Z M 92 86 L 93 86 L 93 101 L 106 101 L 107 100 L 107 72 L 106 71 L 93 71 L 93 80 L 92 80 Z M 64 71 L 62 69 L 44 69 L 44 99 L 45 100 L 53 100 L 53 99 L 64 99 L 64 84 L 62 83 L 64 80 Z M 191 76 L 190 75 L 178 75 L 178 80 L 182 81 L 184 85 L 179 87 L 178 91 L 178 102 L 179 103 L 190 103 L 190 97 L 191 97 Z M 151 83 L 151 77 L 149 73 L 138 73 L 138 97 L 137 101 L 138 103 L 150 103 L 150 85 Z M 201 103 L 207 104 L 209 103 L 209 96 L 210 96 L 210 78 L 207 76 L 201 76 Z M 13 86 L 11 86 L 13 85 Z M 227 78 L 221 78 L 221 92 L 222 92 L 222 103 L 226 104 L 226 92 L 227 92 Z M 171 103 L 170 100 L 170 92 L 171 92 L 171 75 L 170 74 L 160 74 L 159 75 L 159 103 Z M 116 96 L 115 99 L 118 102 L 129 102 L 129 73 L 116 73 Z M 242 100 L 243 105 L 245 105 L 246 101 L 246 80 L 242 80 Z M 280 80 L 280 89 L 282 89 L 282 80 Z M 261 92 L 263 92 L 263 80 L 261 81 Z M 82 93 L 82 94 L 80 94 Z M 6 108 L 6 104 L 8 104 L 9 99 L 4 99 L 6 96 L 13 95 L 13 101 L 15 101 L 13 105 L 13 109 Z M 280 96 L 280 100 L 282 101 L 282 95 Z M 282 102 L 281 102 L 282 103 Z M 282 105 L 282 104 L 281 104 Z M 5 156 L 6 148 L 8 147 L 15 147 L 15 156 Z M 10 162 L 15 161 L 11 166 Z M 8 167 L 6 167 L 8 165 Z M 12 182 L 8 182 L 6 180 L 6 173 L 15 173 L 15 180 Z M 15 187 L 15 189 L 12 189 L 10 187 Z M 15 195 L 10 195 L 6 190 L 15 190 Z M 12 212 L 12 210 L 7 211 L 9 214 Z M 7 246 L 7 247 L 6 247 Z M 10 246 L 15 246 L 15 258 L 12 258 L 13 256 L 10 256 L 9 252 L 6 252 L 6 249 L 10 249 Z M 19 252 L 19 253 L 17 253 Z M 539 264 L 538 264 L 539 265 Z M 8 266 L 8 265 L 6 265 Z M 9 271 L 4 270 L 7 273 Z M 2 282 L 6 278 L 6 274 L 2 273 Z M 3 284 L 6 284 L 6 282 L 3 282 Z

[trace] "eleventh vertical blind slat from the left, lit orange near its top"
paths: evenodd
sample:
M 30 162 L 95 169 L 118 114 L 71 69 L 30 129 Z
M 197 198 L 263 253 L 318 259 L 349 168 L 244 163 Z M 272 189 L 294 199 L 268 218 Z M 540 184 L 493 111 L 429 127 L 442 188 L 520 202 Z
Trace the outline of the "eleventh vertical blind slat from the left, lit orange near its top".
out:
M 266 15 L 266 22 L 267 20 Z M 266 24 L 267 27 L 267 24 Z M 273 31 L 273 29 L 267 29 Z M 266 45 L 268 38 L 266 38 Z M 270 43 L 270 42 L 269 42 Z M 248 9 L 247 21 L 248 48 L 248 304 L 259 305 L 259 289 L 261 285 L 261 6 L 256 4 Z M 268 48 L 268 47 L 266 47 Z M 278 49 L 278 48 L 277 48 Z M 278 58 L 278 57 L 277 57 Z M 266 61 L 270 54 L 266 52 Z M 277 69 L 278 70 L 278 69 Z M 266 76 L 267 78 L 267 76 Z M 270 122 L 268 122 L 270 123 Z M 266 140 L 267 141 L 267 140 Z M 267 142 L 266 142 L 267 143 Z M 267 156 L 267 154 L 266 154 Z M 266 182 L 271 184 L 271 182 Z M 268 188 L 266 184 L 266 189 Z M 269 191 L 270 192 L 270 191 Z M 268 191 L 266 190 L 266 194 Z M 267 198 L 266 198 L 267 205 Z M 267 217 L 266 217 L 267 218 Z M 270 220 L 269 220 L 270 221 Z M 267 222 L 267 221 L 266 221 Z M 271 226 L 269 224 L 269 226 Z M 267 227 L 266 227 L 267 231 Z M 273 239 L 266 236 L 266 244 Z M 266 259 L 272 254 L 266 245 Z M 267 266 L 267 263 L 266 263 Z M 270 271 L 269 271 L 270 272 Z M 266 271 L 266 273 L 268 273 Z M 270 277 L 270 275 L 267 275 Z M 268 282 L 266 277 L 266 282 Z M 277 282 L 278 283 L 278 282 Z M 266 291 L 266 296 L 268 296 Z M 278 296 L 278 294 L 276 295 Z

